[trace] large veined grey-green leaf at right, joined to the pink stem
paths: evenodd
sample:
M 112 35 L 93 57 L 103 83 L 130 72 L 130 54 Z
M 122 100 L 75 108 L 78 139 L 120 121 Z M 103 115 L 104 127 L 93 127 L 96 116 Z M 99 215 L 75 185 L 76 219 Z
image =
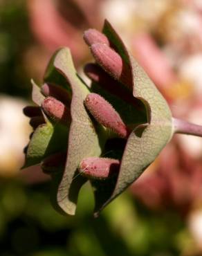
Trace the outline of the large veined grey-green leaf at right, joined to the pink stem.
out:
M 138 125 L 131 132 L 122 156 L 118 179 L 115 183 L 111 183 L 111 194 L 109 194 L 109 189 L 104 192 L 102 184 L 93 184 L 95 214 L 98 214 L 118 194 L 136 181 L 172 137 L 172 114 L 167 102 L 143 68 L 128 53 L 127 48 L 108 21 L 105 21 L 103 33 L 107 35 L 122 59 L 130 65 L 131 77 L 134 82 L 132 93 L 134 97 L 145 104 L 147 122 Z M 100 200 L 100 193 L 102 193 L 102 200 Z

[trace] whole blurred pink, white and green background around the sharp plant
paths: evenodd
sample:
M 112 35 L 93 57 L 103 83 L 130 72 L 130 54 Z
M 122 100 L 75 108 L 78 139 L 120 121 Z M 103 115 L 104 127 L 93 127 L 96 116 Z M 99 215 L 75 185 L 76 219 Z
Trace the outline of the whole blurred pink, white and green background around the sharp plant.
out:
M 201 0 L 0 1 L 0 255 L 202 255 L 202 139 L 176 135 L 131 187 L 93 219 L 89 185 L 77 214 L 49 201 L 39 167 L 20 170 L 30 104 L 50 55 L 71 48 L 77 70 L 91 60 L 82 40 L 107 18 L 177 118 L 202 125 Z M 84 78 L 85 79 L 85 78 Z

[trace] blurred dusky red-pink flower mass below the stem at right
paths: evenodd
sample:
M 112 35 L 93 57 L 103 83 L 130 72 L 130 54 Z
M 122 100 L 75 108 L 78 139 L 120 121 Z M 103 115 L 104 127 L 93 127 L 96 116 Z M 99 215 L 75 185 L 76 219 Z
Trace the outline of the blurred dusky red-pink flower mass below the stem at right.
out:
M 158 158 L 157 169 L 140 177 L 131 192 L 152 209 L 174 208 L 186 215 L 202 201 L 202 161 L 194 161 L 175 140 Z

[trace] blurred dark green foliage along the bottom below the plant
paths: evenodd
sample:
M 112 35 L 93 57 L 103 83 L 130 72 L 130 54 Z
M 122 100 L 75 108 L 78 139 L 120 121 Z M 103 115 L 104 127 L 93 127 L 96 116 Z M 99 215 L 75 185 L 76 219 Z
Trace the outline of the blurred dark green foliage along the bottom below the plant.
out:
M 76 216 L 66 217 L 50 205 L 50 189 L 49 183 L 30 186 L 1 179 L 1 255 L 179 255 L 185 223 L 176 212 L 151 212 L 126 192 L 93 219 L 87 184 Z

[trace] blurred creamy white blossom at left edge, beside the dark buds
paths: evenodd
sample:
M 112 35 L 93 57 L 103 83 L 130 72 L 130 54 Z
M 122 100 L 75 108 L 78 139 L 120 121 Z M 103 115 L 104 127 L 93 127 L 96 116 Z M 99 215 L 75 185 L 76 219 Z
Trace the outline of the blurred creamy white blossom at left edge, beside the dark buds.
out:
M 23 100 L 0 95 L 0 176 L 18 173 L 24 163 L 24 146 L 31 131 L 22 109 Z

